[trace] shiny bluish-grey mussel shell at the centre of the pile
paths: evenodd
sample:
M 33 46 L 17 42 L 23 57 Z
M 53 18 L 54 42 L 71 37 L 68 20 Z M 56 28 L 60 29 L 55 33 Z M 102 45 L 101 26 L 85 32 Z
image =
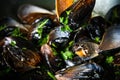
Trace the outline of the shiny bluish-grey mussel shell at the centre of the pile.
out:
M 63 25 L 56 27 L 52 30 L 49 34 L 49 44 L 55 44 L 57 48 L 65 47 L 66 44 L 69 42 L 70 39 L 70 32 L 69 31 L 62 31 Z

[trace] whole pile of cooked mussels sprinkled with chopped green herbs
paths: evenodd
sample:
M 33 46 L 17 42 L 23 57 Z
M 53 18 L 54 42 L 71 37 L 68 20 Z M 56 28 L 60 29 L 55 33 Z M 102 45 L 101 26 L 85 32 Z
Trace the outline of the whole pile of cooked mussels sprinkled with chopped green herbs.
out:
M 0 80 L 119 80 L 120 5 L 93 17 L 94 5 L 57 0 L 55 14 L 24 4 L 20 22 L 1 19 Z

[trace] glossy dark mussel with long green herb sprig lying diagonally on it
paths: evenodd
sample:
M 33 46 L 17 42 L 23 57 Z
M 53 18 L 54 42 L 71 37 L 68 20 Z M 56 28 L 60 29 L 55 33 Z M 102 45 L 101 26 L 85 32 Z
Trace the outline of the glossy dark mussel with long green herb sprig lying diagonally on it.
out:
M 41 28 L 40 25 L 47 21 Z M 29 39 L 33 42 L 38 44 L 39 40 L 45 38 L 52 29 L 54 29 L 55 24 L 52 19 L 50 18 L 40 18 L 37 19 L 32 27 L 30 28 Z M 42 32 L 41 32 L 42 31 Z M 39 33 L 41 32 L 41 34 Z

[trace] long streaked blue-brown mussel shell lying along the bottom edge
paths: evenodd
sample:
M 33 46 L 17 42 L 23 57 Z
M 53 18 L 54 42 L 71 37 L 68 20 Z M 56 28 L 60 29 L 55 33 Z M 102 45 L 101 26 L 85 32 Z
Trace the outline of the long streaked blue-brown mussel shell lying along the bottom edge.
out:
M 56 72 L 57 80 L 102 80 L 103 68 L 96 63 L 84 63 Z

